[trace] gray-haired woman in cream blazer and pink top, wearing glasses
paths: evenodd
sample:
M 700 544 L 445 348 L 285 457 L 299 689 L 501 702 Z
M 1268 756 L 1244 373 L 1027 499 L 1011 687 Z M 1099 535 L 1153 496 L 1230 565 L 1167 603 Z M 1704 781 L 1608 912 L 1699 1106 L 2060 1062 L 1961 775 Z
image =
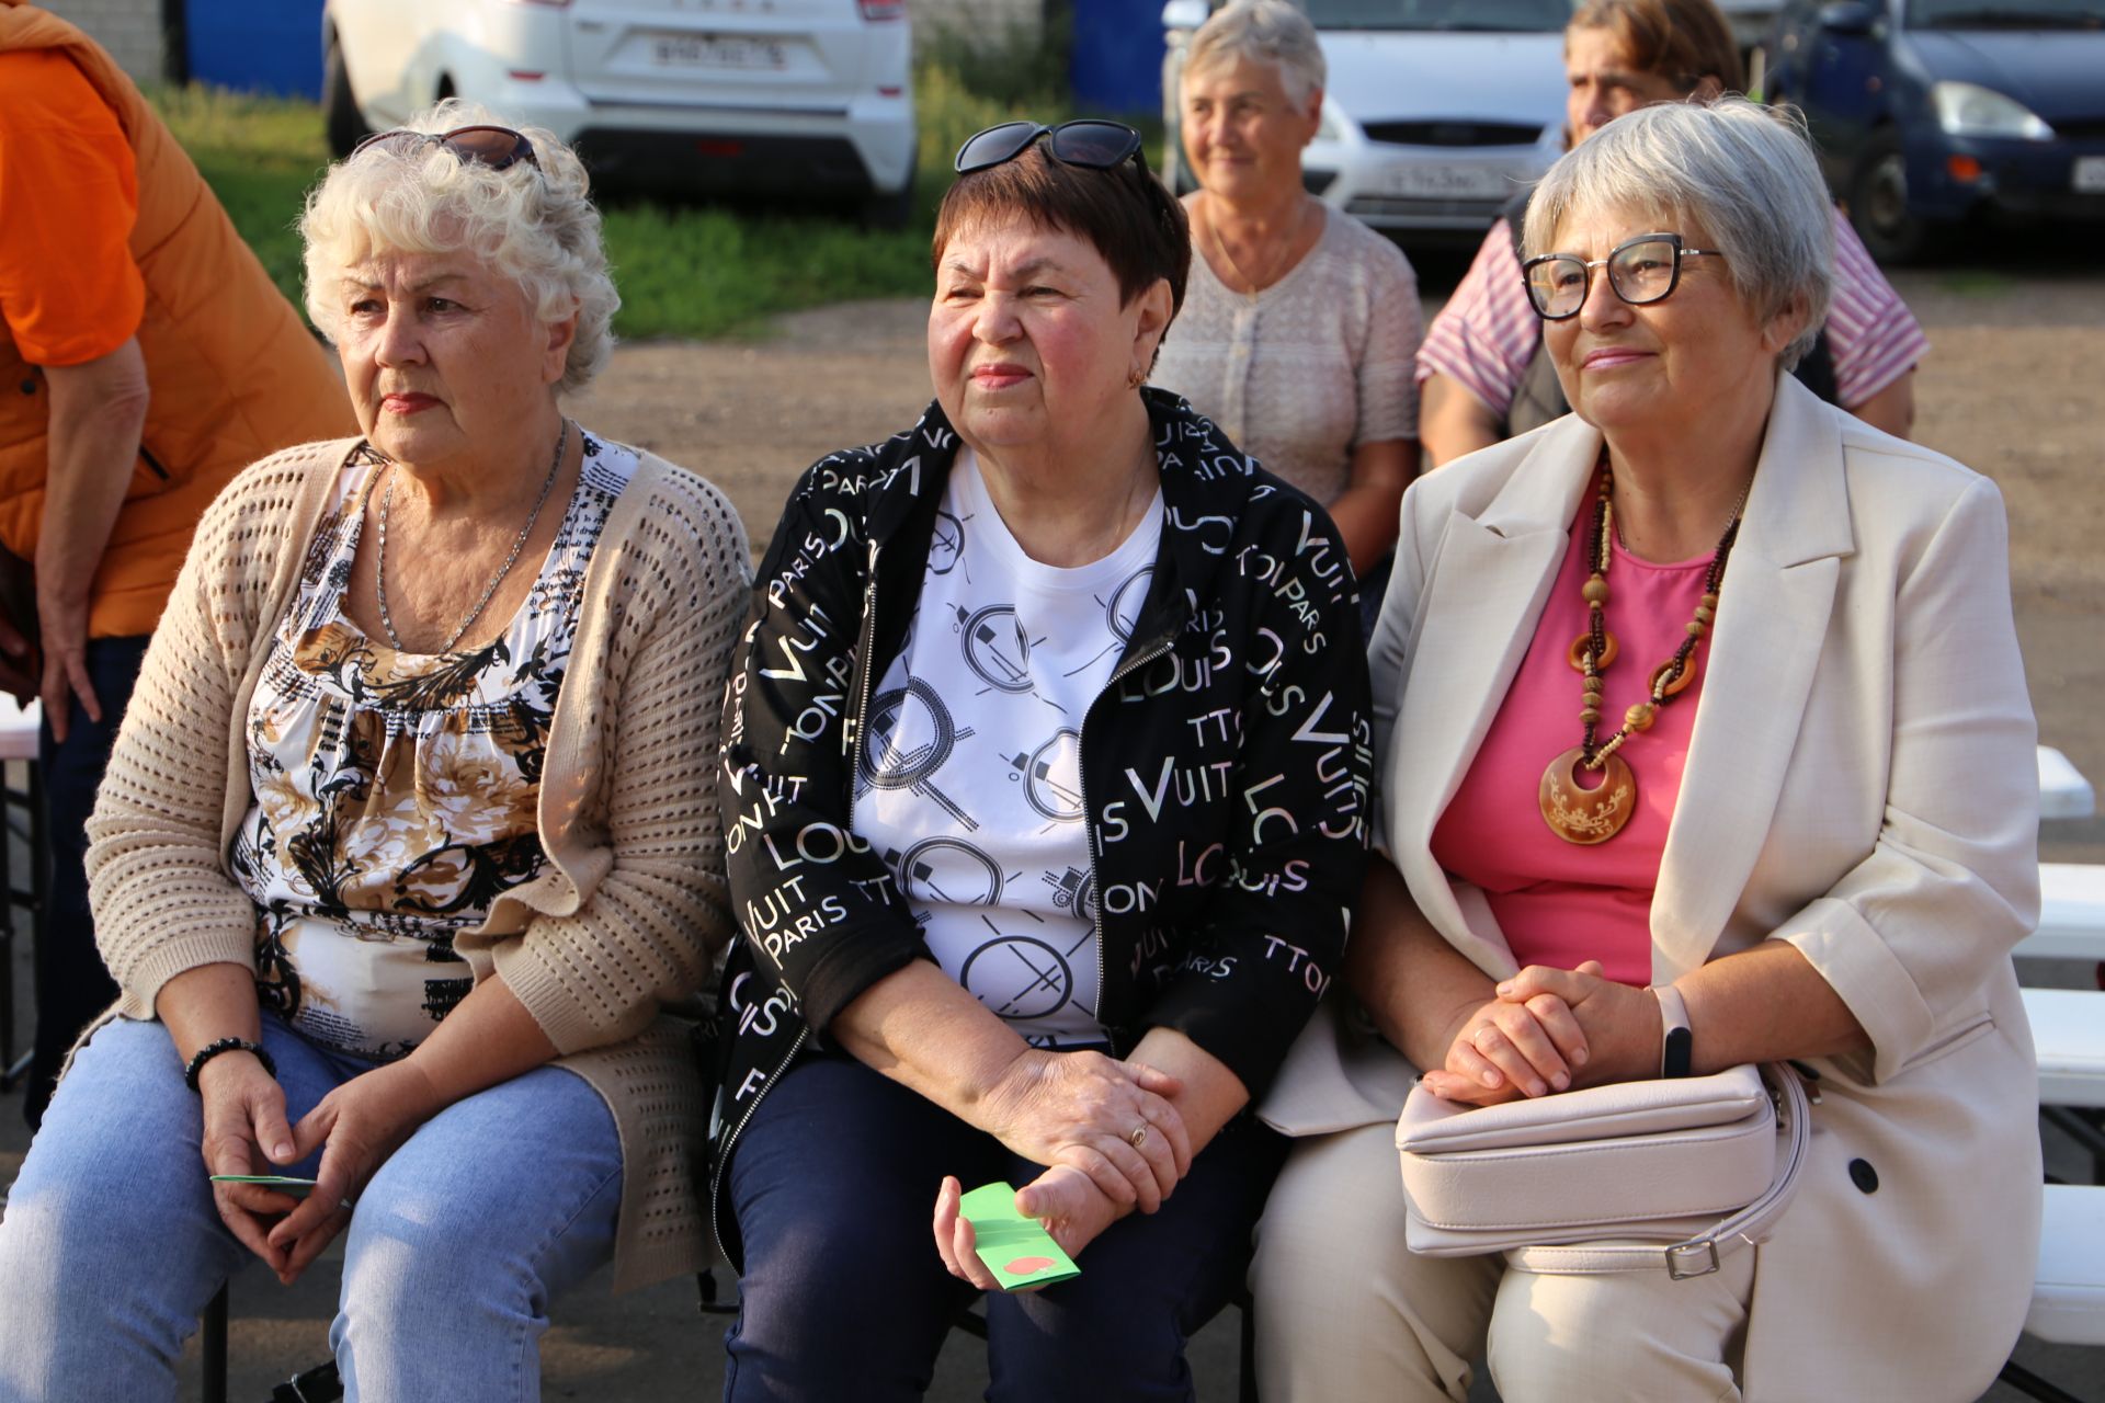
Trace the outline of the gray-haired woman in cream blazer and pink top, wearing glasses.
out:
M 1267 1399 L 1461 1403 L 1488 1350 L 1509 1403 L 1958 1401 L 2017 1338 L 2038 778 L 2002 499 L 1787 374 L 1831 229 L 1804 135 L 1737 99 L 1619 118 L 1528 206 L 1577 414 L 1404 496 L 1387 858 L 1351 1003 L 1265 1106 L 1303 1136 L 1252 1275 Z M 1783 1060 L 1817 1104 L 1760 1245 L 1684 1279 L 1406 1252 L 1412 1066 L 1484 1106 Z

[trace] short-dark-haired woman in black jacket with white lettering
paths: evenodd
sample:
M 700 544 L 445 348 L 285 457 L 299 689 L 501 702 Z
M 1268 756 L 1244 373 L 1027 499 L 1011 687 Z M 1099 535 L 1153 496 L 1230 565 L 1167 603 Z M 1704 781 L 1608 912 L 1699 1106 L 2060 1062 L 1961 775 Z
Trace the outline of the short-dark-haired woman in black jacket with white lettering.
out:
M 989 1397 L 1189 1399 L 1242 1289 L 1284 1155 L 1244 1109 L 1364 867 L 1366 671 L 1322 509 L 1141 387 L 1189 236 L 1139 149 L 960 149 L 935 404 L 813 465 L 760 564 L 720 776 L 733 1401 L 918 1399 L 975 1289 Z M 962 1188 L 1052 1243 L 981 1241 Z

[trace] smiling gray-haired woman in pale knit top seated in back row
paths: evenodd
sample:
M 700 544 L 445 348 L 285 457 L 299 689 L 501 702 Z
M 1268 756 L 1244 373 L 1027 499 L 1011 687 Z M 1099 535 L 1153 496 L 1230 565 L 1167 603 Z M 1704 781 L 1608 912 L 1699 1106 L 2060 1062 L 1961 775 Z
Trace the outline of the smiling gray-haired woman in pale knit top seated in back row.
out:
M 1366 578 L 1417 471 L 1423 316 L 1402 250 L 1301 183 L 1322 84 L 1316 29 L 1286 0 L 1236 0 L 1191 38 L 1179 101 L 1200 257 L 1149 379 L 1326 507 Z

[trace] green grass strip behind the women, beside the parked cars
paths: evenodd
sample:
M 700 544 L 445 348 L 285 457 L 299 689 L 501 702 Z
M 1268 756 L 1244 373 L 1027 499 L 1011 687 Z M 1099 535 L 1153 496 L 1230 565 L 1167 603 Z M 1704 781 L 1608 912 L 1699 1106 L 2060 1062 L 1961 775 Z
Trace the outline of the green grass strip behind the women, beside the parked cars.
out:
M 606 257 L 623 303 L 615 332 L 754 334 L 779 311 L 861 297 L 924 297 L 935 204 L 949 187 L 949 158 L 958 145 L 1017 116 L 1040 122 L 1067 116 L 1067 101 L 1042 59 L 1036 65 L 975 65 L 941 44 L 930 46 L 930 55 L 914 80 L 920 172 L 918 208 L 907 229 L 867 231 L 846 219 L 724 204 L 613 204 L 604 210 Z M 295 221 L 305 191 L 328 164 L 320 109 L 202 86 L 162 88 L 152 99 L 234 227 L 299 305 Z

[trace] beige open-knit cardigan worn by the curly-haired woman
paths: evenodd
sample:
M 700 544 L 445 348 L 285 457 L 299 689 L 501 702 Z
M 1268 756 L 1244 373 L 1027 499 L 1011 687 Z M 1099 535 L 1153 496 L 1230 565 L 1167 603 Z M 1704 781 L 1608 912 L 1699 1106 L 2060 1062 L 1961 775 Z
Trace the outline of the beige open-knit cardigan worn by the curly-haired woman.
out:
M 206 963 L 255 965 L 255 907 L 227 843 L 255 801 L 248 698 L 356 440 L 242 471 L 213 503 L 154 631 L 95 816 L 95 938 L 122 997 Z M 642 465 L 585 574 L 556 698 L 537 827 L 541 875 L 497 898 L 455 949 L 493 970 L 600 1092 L 621 1132 L 615 1289 L 707 1264 L 697 1193 L 707 1087 L 690 997 L 730 938 L 714 799 L 718 709 L 749 599 L 745 530 L 707 482 Z

